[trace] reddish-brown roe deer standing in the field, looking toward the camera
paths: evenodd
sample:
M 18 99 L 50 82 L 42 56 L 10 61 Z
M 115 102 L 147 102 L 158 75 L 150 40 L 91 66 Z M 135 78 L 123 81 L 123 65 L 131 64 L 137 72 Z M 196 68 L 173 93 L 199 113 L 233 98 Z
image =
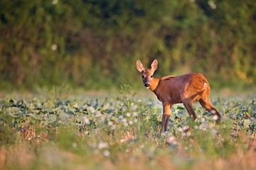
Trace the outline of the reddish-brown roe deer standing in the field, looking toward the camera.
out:
M 138 71 L 142 73 L 142 81 L 146 89 L 151 89 L 163 104 L 161 132 L 167 130 L 171 106 L 176 103 L 183 103 L 191 118 L 195 120 L 196 113 L 193 110 L 192 103 L 199 101 L 201 106 L 213 115 L 213 119 L 217 123 L 220 122 L 221 115 L 210 102 L 210 84 L 203 77 L 203 74 L 190 73 L 154 79 L 153 74 L 158 67 L 157 60 L 151 63 L 151 69 L 144 69 L 142 62 L 139 60 L 137 60 L 136 66 Z

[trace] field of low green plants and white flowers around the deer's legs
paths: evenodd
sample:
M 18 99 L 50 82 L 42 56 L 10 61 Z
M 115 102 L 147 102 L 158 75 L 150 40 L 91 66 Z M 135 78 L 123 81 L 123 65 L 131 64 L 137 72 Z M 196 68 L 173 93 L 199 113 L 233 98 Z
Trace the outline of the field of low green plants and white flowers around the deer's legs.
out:
M 254 94 L 213 94 L 220 124 L 198 104 L 195 122 L 176 105 L 161 134 L 150 94 L 2 94 L 0 169 L 256 169 Z

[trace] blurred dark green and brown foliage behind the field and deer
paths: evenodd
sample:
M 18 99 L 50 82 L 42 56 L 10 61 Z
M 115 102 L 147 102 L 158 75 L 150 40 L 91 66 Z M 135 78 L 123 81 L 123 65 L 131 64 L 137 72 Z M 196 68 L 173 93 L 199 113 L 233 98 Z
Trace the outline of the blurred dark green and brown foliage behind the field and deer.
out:
M 202 72 L 216 89 L 255 86 L 256 3 L 251 0 L 0 1 L 0 88 L 68 84 L 142 86 Z

